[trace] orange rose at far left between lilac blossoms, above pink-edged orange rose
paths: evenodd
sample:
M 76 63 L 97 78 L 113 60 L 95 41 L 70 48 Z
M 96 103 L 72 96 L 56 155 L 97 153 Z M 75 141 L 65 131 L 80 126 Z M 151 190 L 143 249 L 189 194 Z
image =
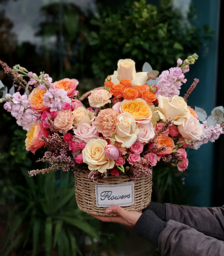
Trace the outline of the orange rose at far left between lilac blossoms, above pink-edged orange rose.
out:
M 43 96 L 46 93 L 45 90 L 40 88 L 34 88 L 32 93 L 29 94 L 30 106 L 36 113 L 43 112 L 48 107 L 43 104 Z

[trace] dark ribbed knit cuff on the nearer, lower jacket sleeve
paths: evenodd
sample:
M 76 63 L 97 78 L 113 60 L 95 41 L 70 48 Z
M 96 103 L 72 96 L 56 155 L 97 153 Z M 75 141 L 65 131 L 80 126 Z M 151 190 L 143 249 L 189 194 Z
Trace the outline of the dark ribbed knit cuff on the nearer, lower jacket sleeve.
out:
M 151 210 L 144 211 L 134 226 L 139 235 L 150 240 L 156 247 L 158 247 L 158 237 L 165 227 L 166 222 Z

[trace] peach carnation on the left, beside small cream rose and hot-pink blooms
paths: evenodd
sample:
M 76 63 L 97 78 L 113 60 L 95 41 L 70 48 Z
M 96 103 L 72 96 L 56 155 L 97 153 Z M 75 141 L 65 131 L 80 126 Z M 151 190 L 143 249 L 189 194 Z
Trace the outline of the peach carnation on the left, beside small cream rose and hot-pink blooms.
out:
M 54 126 L 60 133 L 65 134 L 67 131 L 74 128 L 74 119 L 74 111 L 70 111 L 68 109 L 61 110 L 54 119 Z

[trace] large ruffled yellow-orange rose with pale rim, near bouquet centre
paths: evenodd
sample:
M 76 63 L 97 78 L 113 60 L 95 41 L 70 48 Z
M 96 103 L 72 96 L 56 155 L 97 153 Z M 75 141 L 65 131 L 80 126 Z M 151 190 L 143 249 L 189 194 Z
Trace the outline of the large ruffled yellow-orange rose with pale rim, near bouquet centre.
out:
M 148 123 L 152 118 L 152 111 L 144 99 L 124 100 L 120 106 L 121 112 L 129 112 L 137 123 Z

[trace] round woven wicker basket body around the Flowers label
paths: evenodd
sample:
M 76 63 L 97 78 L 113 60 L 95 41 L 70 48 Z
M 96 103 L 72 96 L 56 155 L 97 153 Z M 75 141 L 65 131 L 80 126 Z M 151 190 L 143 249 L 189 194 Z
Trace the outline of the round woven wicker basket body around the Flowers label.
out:
M 95 183 L 88 178 L 89 170 L 79 170 L 74 172 L 76 203 L 81 211 L 100 216 L 114 216 L 113 213 L 105 213 L 106 207 L 97 207 L 95 195 Z M 128 179 L 126 175 L 107 176 L 97 184 L 126 184 L 134 182 L 134 203 L 129 206 L 122 206 L 129 211 L 140 211 L 149 205 L 152 193 L 152 175 L 140 175 L 134 181 Z

